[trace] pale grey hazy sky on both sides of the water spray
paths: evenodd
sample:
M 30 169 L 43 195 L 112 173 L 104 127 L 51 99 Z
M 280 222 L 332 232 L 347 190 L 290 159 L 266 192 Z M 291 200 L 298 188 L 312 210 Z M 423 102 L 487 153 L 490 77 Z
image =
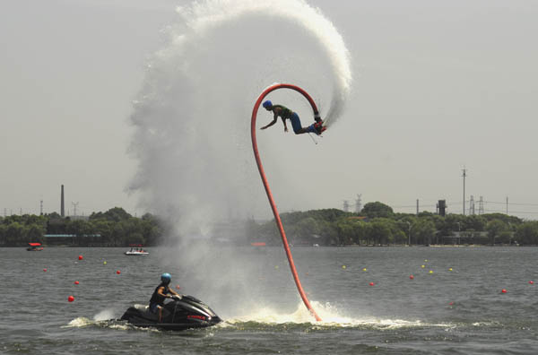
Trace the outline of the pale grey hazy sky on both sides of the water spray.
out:
M 44 212 L 59 212 L 61 185 L 70 214 L 74 203 L 77 214 L 146 212 L 128 188 L 138 167 L 129 117 L 148 62 L 166 46 L 163 30 L 189 4 L 3 2 L 0 214 L 39 213 L 41 200 Z M 473 195 L 478 212 L 482 196 L 485 212 L 506 212 L 508 197 L 509 214 L 538 219 L 538 2 L 308 4 L 343 36 L 353 82 L 318 144 L 284 135 L 280 123 L 263 131 L 290 147 L 269 152 L 277 158 L 266 167 L 286 177 L 273 186 L 281 212 L 342 209 L 344 200 L 352 210 L 360 194 L 396 212 L 414 212 L 417 199 L 435 212 L 445 199 L 447 212 L 461 213 L 466 169 L 466 207 Z

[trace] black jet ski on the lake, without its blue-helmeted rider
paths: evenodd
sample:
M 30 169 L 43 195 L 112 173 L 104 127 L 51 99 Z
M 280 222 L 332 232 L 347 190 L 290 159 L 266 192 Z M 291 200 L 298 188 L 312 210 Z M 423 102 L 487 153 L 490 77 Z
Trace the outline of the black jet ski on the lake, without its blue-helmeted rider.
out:
M 168 300 L 168 299 L 167 299 Z M 164 330 L 185 330 L 205 328 L 217 325 L 222 319 L 200 299 L 183 295 L 181 298 L 165 301 L 162 307 L 162 321 L 159 322 L 159 311 L 152 313 L 149 306 L 134 305 L 129 307 L 121 320 L 142 327 L 155 327 Z

